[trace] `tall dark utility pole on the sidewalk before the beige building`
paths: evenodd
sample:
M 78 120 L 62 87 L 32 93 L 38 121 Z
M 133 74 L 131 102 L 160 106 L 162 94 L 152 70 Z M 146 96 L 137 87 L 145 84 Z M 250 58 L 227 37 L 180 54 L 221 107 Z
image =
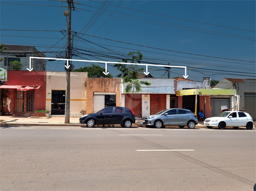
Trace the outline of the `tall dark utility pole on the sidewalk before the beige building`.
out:
M 67 0 L 68 3 L 68 24 L 67 24 L 67 59 L 71 57 L 71 10 L 74 8 L 73 0 Z M 65 12 L 64 12 L 65 15 Z M 70 61 L 67 61 L 70 65 Z M 66 96 L 65 96 L 65 123 L 70 123 L 70 68 L 66 70 Z

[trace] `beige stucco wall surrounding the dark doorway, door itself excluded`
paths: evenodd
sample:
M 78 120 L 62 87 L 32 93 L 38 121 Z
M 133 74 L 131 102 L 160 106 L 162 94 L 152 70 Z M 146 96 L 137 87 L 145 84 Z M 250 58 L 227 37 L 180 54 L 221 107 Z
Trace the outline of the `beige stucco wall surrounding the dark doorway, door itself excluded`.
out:
M 80 115 L 86 111 L 87 72 L 70 73 L 70 114 Z M 46 109 L 51 111 L 52 90 L 66 90 L 66 72 L 47 71 Z

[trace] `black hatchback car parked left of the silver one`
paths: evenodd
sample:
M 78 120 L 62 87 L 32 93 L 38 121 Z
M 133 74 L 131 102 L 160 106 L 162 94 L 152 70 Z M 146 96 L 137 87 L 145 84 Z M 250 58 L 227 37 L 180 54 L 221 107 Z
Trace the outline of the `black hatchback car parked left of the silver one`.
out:
M 105 107 L 97 113 L 91 113 L 80 117 L 79 122 L 87 127 L 95 124 L 121 124 L 122 127 L 132 127 L 135 123 L 135 115 L 128 107 Z

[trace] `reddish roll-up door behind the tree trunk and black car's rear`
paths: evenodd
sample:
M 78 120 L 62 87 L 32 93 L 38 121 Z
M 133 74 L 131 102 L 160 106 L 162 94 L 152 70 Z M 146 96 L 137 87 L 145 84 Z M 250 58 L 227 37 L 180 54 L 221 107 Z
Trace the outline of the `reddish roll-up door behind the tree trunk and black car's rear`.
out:
M 132 93 L 126 94 L 126 107 L 129 106 Z M 134 93 L 132 101 L 130 102 L 130 108 L 133 110 L 135 117 L 141 117 L 141 94 Z

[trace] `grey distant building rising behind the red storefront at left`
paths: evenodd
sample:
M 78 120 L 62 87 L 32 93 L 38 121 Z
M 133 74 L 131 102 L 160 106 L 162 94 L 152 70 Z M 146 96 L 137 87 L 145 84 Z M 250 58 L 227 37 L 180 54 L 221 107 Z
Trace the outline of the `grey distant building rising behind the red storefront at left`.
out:
M 0 58 L 4 58 L 0 62 L 0 67 L 8 70 L 10 62 L 19 61 L 22 63 L 22 70 L 27 70 L 30 68 L 29 57 L 46 57 L 44 53 L 39 52 L 33 46 L 20 46 L 20 45 L 4 45 L 5 50 L 1 52 Z M 45 71 L 46 69 L 46 60 L 44 59 L 32 59 L 31 68 L 34 71 Z

